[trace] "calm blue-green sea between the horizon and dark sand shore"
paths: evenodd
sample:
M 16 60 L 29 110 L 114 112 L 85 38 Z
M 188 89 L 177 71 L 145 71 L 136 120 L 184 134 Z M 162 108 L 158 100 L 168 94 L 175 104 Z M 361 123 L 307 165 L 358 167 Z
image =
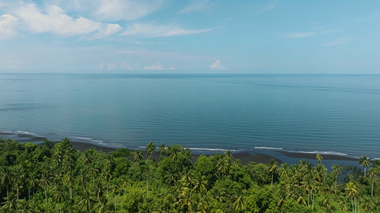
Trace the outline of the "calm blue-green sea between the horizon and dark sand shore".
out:
M 0 131 L 19 141 L 378 158 L 380 75 L 0 74 Z

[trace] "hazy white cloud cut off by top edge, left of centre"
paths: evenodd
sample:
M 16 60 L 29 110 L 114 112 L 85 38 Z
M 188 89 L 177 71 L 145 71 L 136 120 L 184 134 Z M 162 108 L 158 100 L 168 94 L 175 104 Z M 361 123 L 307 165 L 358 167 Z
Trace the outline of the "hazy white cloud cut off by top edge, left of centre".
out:
M 161 0 L 96 0 L 98 8 L 94 15 L 101 20 L 135 20 L 157 11 Z M 92 4 L 92 1 L 89 1 Z

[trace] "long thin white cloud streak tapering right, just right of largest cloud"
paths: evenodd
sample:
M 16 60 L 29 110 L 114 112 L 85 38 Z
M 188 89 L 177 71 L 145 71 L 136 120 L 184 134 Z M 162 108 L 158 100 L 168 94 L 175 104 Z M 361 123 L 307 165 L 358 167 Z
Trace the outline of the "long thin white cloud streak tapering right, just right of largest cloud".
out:
M 186 30 L 172 25 L 151 25 L 151 24 L 133 24 L 129 26 L 121 35 L 124 36 L 143 36 L 143 37 L 161 37 L 161 36 L 179 36 L 186 34 L 204 33 L 214 30 L 214 28 L 202 30 Z

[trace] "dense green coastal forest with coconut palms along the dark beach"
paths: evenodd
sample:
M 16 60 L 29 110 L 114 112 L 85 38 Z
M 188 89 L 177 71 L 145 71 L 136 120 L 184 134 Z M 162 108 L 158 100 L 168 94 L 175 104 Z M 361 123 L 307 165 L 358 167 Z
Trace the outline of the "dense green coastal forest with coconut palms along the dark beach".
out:
M 154 154 L 150 142 L 146 152 Z M 159 160 L 117 149 L 73 150 L 64 139 L 18 143 L 0 139 L 0 212 L 17 213 L 319 213 L 380 212 L 380 161 L 355 166 L 242 165 L 230 151 L 211 157 L 179 145 L 158 147 Z

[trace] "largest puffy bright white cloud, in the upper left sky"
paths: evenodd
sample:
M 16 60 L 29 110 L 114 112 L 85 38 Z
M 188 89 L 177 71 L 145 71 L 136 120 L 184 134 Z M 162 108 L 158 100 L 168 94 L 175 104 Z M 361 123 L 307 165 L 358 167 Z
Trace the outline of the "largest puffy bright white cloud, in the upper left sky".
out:
M 41 12 L 34 3 L 27 3 L 17 8 L 15 15 L 25 23 L 26 28 L 32 33 L 51 32 L 72 36 L 97 32 L 93 38 L 102 38 L 121 30 L 117 24 L 103 24 L 84 17 L 74 19 L 56 5 L 46 6 L 44 11 L 45 13 Z

